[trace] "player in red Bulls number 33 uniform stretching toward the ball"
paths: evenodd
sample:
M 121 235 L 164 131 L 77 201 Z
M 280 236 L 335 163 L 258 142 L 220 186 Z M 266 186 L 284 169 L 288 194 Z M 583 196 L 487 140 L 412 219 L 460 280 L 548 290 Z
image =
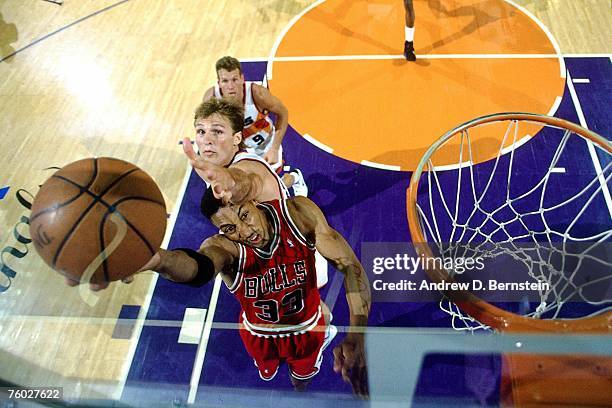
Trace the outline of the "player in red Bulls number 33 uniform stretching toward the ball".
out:
M 335 331 L 316 285 L 316 248 L 343 273 L 350 311 L 351 330 L 333 351 L 334 371 L 367 396 L 368 278 L 319 207 L 306 197 L 224 206 L 210 187 L 201 207 L 219 234 L 198 251 L 160 249 L 142 270 L 196 287 L 220 275 L 242 306 L 240 337 L 261 378 L 271 380 L 286 361 L 294 388 L 304 390 Z

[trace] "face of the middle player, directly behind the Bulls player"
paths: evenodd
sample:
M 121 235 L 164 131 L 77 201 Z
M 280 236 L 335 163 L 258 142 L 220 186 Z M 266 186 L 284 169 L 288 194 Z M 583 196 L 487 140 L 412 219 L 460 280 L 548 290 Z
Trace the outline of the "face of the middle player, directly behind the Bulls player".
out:
M 242 140 L 242 133 L 232 130 L 230 121 L 215 113 L 195 122 L 196 144 L 200 156 L 211 163 L 225 166 L 230 163 Z

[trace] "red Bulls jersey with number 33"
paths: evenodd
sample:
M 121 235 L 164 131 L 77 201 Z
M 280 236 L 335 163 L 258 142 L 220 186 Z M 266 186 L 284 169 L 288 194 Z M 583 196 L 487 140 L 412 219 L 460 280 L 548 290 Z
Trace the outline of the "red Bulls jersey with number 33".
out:
M 285 200 L 258 205 L 272 225 L 267 249 L 238 244 L 232 292 L 242 306 L 245 328 L 258 336 L 308 331 L 321 316 L 315 247 L 293 223 Z

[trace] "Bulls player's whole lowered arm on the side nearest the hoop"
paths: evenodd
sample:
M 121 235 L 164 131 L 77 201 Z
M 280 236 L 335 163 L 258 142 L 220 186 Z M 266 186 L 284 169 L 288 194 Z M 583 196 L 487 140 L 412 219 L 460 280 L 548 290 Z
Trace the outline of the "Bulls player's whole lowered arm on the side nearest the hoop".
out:
M 344 381 L 352 385 L 355 394 L 366 397 L 368 389 L 364 331 L 371 305 L 368 277 L 350 245 L 329 226 L 316 204 L 306 197 L 295 197 L 288 201 L 288 205 L 300 231 L 315 242 L 321 255 L 344 274 L 352 330 L 334 348 L 334 371 L 342 374 Z

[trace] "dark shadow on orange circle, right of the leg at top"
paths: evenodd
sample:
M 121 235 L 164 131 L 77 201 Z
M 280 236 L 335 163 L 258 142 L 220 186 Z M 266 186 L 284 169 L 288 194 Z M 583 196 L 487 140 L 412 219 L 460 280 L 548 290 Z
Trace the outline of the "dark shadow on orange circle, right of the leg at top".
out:
M 455 19 L 461 17 L 472 17 L 472 20 L 460 31 L 434 41 L 432 44 L 426 47 L 418 49 L 419 54 L 428 54 L 436 48 L 457 41 L 458 39 L 468 36 L 488 24 L 506 19 L 511 15 L 506 12 L 506 8 L 503 7 L 503 5 L 501 5 L 497 0 L 486 0 L 477 6 L 459 6 L 454 9 L 448 9 L 448 2 L 442 0 L 428 0 L 427 4 L 434 12 L 434 16 L 436 17 L 448 17 Z M 442 24 L 443 21 L 440 20 L 440 23 Z

